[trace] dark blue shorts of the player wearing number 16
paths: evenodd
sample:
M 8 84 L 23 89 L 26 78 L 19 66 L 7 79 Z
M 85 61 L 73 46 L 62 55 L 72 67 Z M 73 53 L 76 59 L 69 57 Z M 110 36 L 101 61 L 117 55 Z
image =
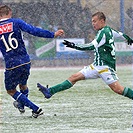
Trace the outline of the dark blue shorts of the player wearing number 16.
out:
M 6 90 L 16 89 L 18 84 L 26 85 L 30 75 L 30 64 L 22 65 L 12 70 L 5 71 Z

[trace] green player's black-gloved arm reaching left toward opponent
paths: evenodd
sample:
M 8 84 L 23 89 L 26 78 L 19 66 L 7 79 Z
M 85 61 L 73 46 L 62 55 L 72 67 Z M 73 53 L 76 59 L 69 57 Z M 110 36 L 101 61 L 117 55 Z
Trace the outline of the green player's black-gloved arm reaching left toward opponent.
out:
M 73 42 L 69 42 L 67 40 L 64 40 L 63 44 L 66 45 L 66 47 L 74 48 L 74 49 L 77 49 L 77 50 L 84 50 L 85 51 L 85 50 L 94 50 L 95 49 L 93 43 L 75 44 Z

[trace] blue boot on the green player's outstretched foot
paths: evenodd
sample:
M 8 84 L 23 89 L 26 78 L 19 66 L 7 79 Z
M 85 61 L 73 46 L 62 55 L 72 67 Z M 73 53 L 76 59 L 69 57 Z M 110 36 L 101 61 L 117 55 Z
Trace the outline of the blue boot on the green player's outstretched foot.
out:
M 45 98 L 49 99 L 52 94 L 50 93 L 49 88 L 42 86 L 41 84 L 37 83 L 37 87 L 39 88 L 39 91 L 41 91 L 43 93 L 43 95 L 45 96 Z

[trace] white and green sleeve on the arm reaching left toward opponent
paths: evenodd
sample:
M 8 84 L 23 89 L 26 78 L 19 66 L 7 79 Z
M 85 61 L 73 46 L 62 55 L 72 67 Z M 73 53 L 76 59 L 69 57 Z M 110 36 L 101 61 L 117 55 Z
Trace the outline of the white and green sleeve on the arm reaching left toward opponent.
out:
M 88 44 L 76 44 L 75 49 L 85 51 L 85 50 L 94 50 L 95 47 L 92 41 L 91 43 L 88 43 Z

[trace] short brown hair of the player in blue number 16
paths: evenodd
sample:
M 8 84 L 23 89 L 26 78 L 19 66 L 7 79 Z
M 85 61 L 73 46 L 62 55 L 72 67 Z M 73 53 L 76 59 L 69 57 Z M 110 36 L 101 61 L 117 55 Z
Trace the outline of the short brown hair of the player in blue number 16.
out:
M 0 16 L 8 15 L 9 12 L 11 12 L 12 9 L 7 5 L 0 5 Z

